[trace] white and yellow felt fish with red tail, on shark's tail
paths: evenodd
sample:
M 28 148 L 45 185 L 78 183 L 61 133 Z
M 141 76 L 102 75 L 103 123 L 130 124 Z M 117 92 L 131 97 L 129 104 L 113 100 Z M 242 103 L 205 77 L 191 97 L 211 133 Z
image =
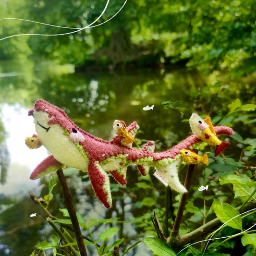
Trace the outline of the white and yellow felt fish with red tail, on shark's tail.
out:
M 221 141 L 217 138 L 210 120 L 210 117 L 203 120 L 200 116 L 193 113 L 189 119 L 189 123 L 192 132 L 198 139 L 201 139 L 207 144 L 216 146 L 214 156 L 217 157 L 227 146 L 230 145 L 230 143 Z

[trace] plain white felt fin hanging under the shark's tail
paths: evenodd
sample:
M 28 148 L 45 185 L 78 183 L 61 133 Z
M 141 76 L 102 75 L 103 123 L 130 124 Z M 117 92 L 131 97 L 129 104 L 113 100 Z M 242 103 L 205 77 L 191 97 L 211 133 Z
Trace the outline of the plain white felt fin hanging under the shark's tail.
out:
M 168 184 L 172 189 L 179 193 L 186 193 L 187 190 L 179 181 L 178 170 L 182 163 L 182 158 L 164 167 L 157 168 L 154 176 L 157 177 L 165 185 Z

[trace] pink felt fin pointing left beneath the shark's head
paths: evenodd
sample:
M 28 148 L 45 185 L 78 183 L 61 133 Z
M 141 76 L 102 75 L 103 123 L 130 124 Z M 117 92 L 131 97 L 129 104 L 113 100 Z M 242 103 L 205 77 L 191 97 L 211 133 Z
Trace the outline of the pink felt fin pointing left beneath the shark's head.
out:
M 53 155 L 49 155 L 49 157 L 45 158 L 41 163 L 37 165 L 35 170 L 30 174 L 30 179 L 36 180 L 49 174 L 50 172 L 57 171 L 63 166 L 64 165 L 57 161 Z

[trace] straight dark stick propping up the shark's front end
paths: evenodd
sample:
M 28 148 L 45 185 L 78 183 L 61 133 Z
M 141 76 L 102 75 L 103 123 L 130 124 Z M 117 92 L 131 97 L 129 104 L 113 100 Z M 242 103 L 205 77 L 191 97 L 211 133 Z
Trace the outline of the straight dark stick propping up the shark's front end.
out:
M 71 222 L 74 227 L 74 234 L 75 234 L 75 238 L 77 241 L 77 245 L 78 245 L 80 254 L 81 254 L 81 256 L 87 256 L 84 239 L 83 239 L 83 236 L 82 236 L 82 233 L 80 230 L 80 226 L 78 223 L 78 219 L 77 219 L 76 213 L 75 213 L 72 195 L 69 191 L 68 184 L 66 182 L 65 176 L 64 176 L 61 168 L 57 171 L 57 174 L 58 174 L 58 178 L 61 182 L 61 187 L 62 187 L 62 191 L 63 191 L 63 195 L 64 195 L 64 203 L 68 209 L 69 216 L 70 216 Z

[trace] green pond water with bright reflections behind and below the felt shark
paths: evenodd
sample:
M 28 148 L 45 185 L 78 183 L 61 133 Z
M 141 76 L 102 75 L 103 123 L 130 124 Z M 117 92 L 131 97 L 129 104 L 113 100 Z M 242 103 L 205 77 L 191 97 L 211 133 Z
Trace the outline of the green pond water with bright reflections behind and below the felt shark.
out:
M 69 64 L 28 60 L 1 61 L 0 255 L 30 255 L 35 245 L 44 239 L 50 239 L 52 233 L 45 220 L 47 215 L 29 197 L 29 191 L 33 191 L 37 197 L 46 195 L 49 183 L 49 176 L 36 181 L 29 179 L 30 173 L 49 152 L 44 147 L 31 150 L 24 144 L 25 138 L 35 133 L 33 118 L 27 115 L 27 111 L 33 108 L 38 98 L 62 108 L 80 128 L 106 140 L 114 136 L 114 120 L 123 120 L 126 124 L 136 121 L 140 125 L 140 132 L 136 135 L 137 145 L 142 146 L 147 140 L 154 140 L 160 151 L 167 150 L 190 133 L 188 123 L 181 122 L 185 117 L 181 118 L 173 110 L 165 110 L 161 103 L 167 100 L 182 101 L 181 107 L 186 108 L 184 111 L 190 116 L 194 110 L 201 109 L 200 96 L 195 92 L 198 92 L 198 87 L 211 83 L 207 79 L 196 70 L 186 69 L 76 73 L 73 65 Z M 236 95 L 236 91 L 229 91 L 229 98 Z M 220 93 L 219 97 L 222 96 L 223 93 Z M 196 97 L 197 106 L 194 103 Z M 143 110 L 147 105 L 154 105 L 153 110 Z M 227 104 L 223 102 L 223 105 Z M 143 198 L 145 194 L 151 193 L 148 190 L 131 190 L 135 183 L 143 181 L 135 167 L 128 169 L 127 186 L 121 188 L 128 194 L 132 191 L 134 198 L 118 192 L 118 187 L 113 186 L 115 206 L 108 211 L 98 202 L 85 174 L 71 168 L 65 173 L 76 209 L 85 218 L 118 217 L 128 221 L 133 216 L 152 213 L 152 207 L 142 209 L 134 206 L 135 197 L 138 198 L 141 194 Z M 148 179 L 156 183 L 154 193 L 159 198 L 158 206 L 164 207 L 165 187 L 154 177 L 146 178 L 147 182 Z M 183 183 L 183 171 L 180 179 Z M 116 184 L 113 179 L 111 183 Z M 58 209 L 63 208 L 64 204 L 59 183 L 53 194 L 49 211 L 61 218 Z M 173 196 L 175 195 L 177 194 L 174 193 Z M 35 212 L 37 217 L 30 217 Z M 95 237 L 109 226 L 110 224 L 97 226 Z M 135 227 L 135 223 L 113 223 L 111 226 L 118 226 L 120 237 L 124 237 L 122 251 L 137 241 L 137 235 L 141 232 L 139 227 Z M 86 232 L 84 234 L 88 235 Z M 116 238 L 118 239 L 118 235 Z M 90 253 L 96 255 L 93 250 Z M 146 254 L 151 255 L 143 243 L 127 253 L 130 256 Z

